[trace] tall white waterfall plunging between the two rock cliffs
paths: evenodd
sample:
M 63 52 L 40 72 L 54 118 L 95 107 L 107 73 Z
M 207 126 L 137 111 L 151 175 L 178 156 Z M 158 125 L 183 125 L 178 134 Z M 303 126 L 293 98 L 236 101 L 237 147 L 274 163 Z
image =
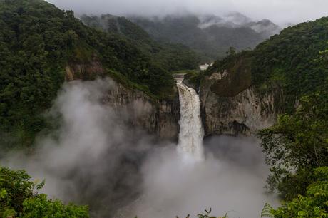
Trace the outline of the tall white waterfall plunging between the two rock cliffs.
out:
M 203 160 L 204 130 L 200 118 L 200 98 L 193 88 L 189 88 L 183 79 L 177 78 L 180 100 L 180 133 L 178 152 L 192 160 Z

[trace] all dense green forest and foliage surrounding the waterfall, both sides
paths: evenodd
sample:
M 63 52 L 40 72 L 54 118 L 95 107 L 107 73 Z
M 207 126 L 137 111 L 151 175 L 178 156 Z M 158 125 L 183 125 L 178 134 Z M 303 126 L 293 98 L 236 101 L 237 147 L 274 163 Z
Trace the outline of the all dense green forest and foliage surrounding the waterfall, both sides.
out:
M 190 19 L 195 18 L 175 27 L 197 22 Z M 67 80 L 69 66 L 99 63 L 101 71 L 80 79 L 109 76 L 157 103 L 176 97 L 173 73 L 187 73 L 185 80 L 198 91 L 205 76 L 228 71 L 211 87 L 220 97 L 250 87 L 259 95 L 283 93 L 275 99 L 275 125 L 256 133 L 270 167 L 267 191 L 282 202 L 279 207 L 263 202 L 262 217 L 328 217 L 328 17 L 285 28 L 253 50 L 229 46 L 227 56 L 202 72 L 197 68 L 206 46 L 158 40 L 138 23 L 158 28 L 110 14 L 77 19 L 73 11 L 43 0 L 0 0 L 0 157 L 19 150 L 33 153 L 37 135 L 58 127 L 58 120 L 44 113 Z M 164 28 L 157 31 L 153 34 L 161 35 Z M 263 39 L 250 28 L 226 34 L 254 44 Z M 239 42 L 237 50 L 242 50 L 245 41 Z M 210 58 L 223 53 L 207 52 Z M 0 217 L 90 217 L 88 206 L 41 194 L 44 184 L 24 170 L 0 167 Z M 205 212 L 198 217 L 212 216 Z

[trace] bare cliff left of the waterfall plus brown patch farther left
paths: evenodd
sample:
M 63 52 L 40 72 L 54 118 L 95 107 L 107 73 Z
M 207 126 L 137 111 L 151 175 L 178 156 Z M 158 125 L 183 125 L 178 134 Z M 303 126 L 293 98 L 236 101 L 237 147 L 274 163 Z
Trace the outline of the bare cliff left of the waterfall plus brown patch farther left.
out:
M 66 80 L 89 79 L 103 76 L 101 63 L 74 63 L 66 67 Z M 173 100 L 155 100 L 140 90 L 126 88 L 114 82 L 103 103 L 114 108 L 116 113 L 130 126 L 140 127 L 155 133 L 160 139 L 178 141 L 180 103 L 175 88 Z

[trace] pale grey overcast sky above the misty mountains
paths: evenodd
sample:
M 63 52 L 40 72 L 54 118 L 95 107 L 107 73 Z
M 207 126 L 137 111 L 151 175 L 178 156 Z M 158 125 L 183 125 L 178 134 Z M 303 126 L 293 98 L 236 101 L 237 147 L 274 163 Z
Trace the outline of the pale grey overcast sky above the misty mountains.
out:
M 277 24 L 318 19 L 328 15 L 328 0 L 48 0 L 62 9 L 88 14 L 163 15 L 177 11 L 215 15 L 238 11 L 252 19 Z

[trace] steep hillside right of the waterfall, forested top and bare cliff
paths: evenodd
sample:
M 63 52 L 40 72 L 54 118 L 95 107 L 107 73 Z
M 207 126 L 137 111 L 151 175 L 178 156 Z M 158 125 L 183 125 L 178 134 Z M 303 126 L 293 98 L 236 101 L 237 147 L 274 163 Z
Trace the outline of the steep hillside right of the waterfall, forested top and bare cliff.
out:
M 293 113 L 299 98 L 327 83 L 328 18 L 283 30 L 254 51 L 216 61 L 200 88 L 205 132 L 249 134 Z

